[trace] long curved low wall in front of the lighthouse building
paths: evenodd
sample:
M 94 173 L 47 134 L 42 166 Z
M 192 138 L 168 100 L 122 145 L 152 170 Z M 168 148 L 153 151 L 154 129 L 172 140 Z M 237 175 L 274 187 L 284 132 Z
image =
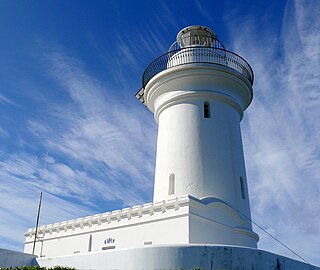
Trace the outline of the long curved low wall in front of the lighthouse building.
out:
M 60 265 L 83 270 L 320 270 L 258 249 L 213 245 L 150 246 L 36 260 L 40 266 Z

